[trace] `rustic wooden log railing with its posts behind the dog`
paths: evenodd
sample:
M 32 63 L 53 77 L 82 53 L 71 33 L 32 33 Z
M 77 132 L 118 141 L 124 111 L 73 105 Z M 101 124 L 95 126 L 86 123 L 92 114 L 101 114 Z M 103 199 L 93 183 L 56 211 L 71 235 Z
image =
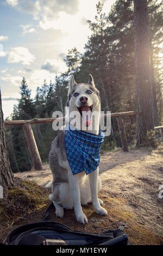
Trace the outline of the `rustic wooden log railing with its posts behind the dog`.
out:
M 122 148 L 124 151 L 128 151 L 128 143 L 127 143 L 126 131 L 125 131 L 124 124 L 123 124 L 123 117 L 127 117 L 129 115 L 140 115 L 140 112 L 129 111 L 129 112 L 121 112 L 121 113 L 111 113 L 111 117 L 117 118 Z M 104 116 L 106 117 L 106 114 L 104 114 Z M 60 119 L 60 118 L 35 118 L 35 119 L 31 119 L 31 120 L 4 121 L 4 125 L 22 125 L 24 135 L 26 137 L 30 157 L 32 159 L 34 168 L 36 170 L 42 170 L 43 167 L 42 167 L 42 161 L 40 158 L 39 150 L 37 149 L 37 145 L 35 142 L 31 124 L 53 123 L 53 121 L 56 119 Z M 61 118 L 61 119 L 64 120 L 64 118 Z

